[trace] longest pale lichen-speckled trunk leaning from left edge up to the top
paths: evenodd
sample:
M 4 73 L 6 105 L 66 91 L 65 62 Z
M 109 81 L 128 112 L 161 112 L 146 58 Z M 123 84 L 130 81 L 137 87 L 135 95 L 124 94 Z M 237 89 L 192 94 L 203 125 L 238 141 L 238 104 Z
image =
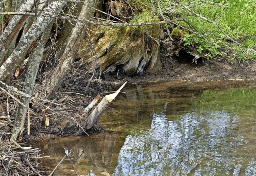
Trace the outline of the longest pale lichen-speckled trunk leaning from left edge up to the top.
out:
M 12 75 L 14 70 L 16 70 L 17 66 L 26 56 L 27 50 L 31 46 L 32 42 L 38 39 L 42 32 L 44 32 L 46 26 L 52 22 L 57 13 L 65 4 L 66 1 L 52 1 L 48 7 L 39 14 L 31 28 L 20 40 L 15 50 L 8 57 L 6 62 L 4 62 L 0 67 L 0 80 L 4 80 L 6 77 Z

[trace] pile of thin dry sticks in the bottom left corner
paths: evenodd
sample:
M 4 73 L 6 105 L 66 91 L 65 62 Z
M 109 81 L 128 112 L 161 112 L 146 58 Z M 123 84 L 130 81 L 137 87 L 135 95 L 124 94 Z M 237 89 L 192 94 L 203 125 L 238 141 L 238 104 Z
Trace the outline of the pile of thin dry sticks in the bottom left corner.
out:
M 43 176 L 38 159 L 42 158 L 38 148 L 22 147 L 17 142 L 0 138 L 0 176 Z M 45 157 L 44 157 L 45 158 Z

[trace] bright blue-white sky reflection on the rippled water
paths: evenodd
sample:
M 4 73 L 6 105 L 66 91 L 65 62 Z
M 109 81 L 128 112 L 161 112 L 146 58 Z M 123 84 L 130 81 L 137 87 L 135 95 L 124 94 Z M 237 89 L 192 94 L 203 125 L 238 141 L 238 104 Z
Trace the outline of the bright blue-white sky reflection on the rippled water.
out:
M 245 149 L 253 140 L 239 125 L 239 117 L 224 112 L 193 112 L 176 121 L 154 114 L 149 131 L 126 138 L 114 175 L 256 174 L 256 147 Z

